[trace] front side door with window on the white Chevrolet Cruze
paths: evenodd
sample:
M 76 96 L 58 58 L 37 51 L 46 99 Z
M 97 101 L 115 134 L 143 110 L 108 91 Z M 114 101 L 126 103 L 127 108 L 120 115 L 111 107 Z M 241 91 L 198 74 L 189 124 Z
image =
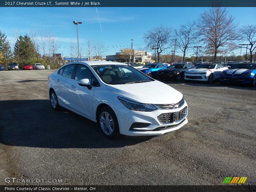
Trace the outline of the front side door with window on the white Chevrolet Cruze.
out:
M 78 81 L 81 79 L 89 79 L 91 87 L 79 85 Z M 93 94 L 97 86 L 99 86 L 98 81 L 91 70 L 83 64 L 78 64 L 74 78 L 70 82 L 73 109 L 84 116 L 93 118 Z

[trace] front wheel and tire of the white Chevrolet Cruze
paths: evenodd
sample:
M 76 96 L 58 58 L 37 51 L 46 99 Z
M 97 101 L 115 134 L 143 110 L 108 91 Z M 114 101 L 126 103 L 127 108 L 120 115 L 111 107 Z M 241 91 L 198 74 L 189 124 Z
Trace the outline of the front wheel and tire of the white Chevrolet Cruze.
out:
M 110 107 L 100 109 L 98 124 L 104 136 L 113 139 L 120 135 L 116 114 Z

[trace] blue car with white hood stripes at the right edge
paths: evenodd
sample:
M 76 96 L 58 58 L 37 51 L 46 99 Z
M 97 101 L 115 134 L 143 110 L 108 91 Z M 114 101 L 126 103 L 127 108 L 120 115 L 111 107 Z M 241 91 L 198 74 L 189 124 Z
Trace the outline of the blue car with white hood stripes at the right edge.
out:
M 256 64 L 255 63 L 237 63 L 221 72 L 220 84 L 241 83 L 256 84 Z

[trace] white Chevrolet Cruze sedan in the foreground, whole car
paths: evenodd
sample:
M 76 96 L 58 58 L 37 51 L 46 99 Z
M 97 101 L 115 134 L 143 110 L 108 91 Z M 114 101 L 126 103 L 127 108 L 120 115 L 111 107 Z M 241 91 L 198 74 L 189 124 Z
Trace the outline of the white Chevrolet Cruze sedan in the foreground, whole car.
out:
M 61 106 L 97 122 L 110 138 L 161 135 L 188 123 L 180 92 L 123 63 L 68 63 L 48 83 L 54 110 Z

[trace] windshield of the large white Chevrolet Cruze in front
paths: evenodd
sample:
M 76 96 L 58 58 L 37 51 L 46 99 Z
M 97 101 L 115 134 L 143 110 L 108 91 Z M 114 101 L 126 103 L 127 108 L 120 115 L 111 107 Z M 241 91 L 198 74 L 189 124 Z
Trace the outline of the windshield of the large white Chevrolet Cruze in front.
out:
M 154 81 L 129 65 L 95 65 L 93 70 L 106 84 L 132 84 Z

